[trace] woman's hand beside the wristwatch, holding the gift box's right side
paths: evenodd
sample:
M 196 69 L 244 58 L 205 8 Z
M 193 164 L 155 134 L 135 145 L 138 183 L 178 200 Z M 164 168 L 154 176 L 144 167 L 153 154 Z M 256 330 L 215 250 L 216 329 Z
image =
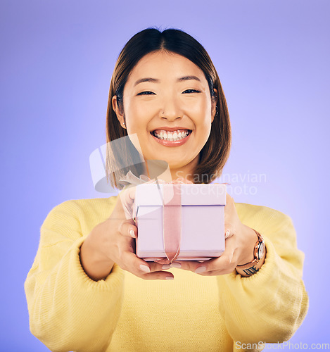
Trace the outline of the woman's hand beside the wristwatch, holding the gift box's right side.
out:
M 234 199 L 227 194 L 224 206 L 225 249 L 218 258 L 204 260 L 174 260 L 180 263 L 183 270 L 190 270 L 203 276 L 224 275 L 233 272 L 237 265 L 243 265 L 253 260 L 253 247 L 258 236 L 248 226 L 239 220 Z M 161 263 L 167 263 L 163 260 Z M 201 271 L 202 268 L 204 271 Z M 197 270 L 197 271 L 196 271 Z

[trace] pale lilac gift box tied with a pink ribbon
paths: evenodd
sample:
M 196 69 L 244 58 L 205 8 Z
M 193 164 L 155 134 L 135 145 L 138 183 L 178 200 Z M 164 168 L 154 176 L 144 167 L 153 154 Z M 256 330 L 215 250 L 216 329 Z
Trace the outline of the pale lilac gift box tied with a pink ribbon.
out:
M 139 184 L 136 254 L 146 261 L 208 260 L 224 251 L 226 184 Z

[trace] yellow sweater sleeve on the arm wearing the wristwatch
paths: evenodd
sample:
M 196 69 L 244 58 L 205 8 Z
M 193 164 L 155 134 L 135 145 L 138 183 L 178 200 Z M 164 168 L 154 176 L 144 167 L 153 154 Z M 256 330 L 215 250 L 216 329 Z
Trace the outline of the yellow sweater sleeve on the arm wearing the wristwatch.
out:
M 304 254 L 297 249 L 293 222 L 277 210 L 258 208 L 255 216 L 242 222 L 263 235 L 265 263 L 250 277 L 236 270 L 217 276 L 220 313 L 232 339 L 245 344 L 291 339 L 308 309 Z

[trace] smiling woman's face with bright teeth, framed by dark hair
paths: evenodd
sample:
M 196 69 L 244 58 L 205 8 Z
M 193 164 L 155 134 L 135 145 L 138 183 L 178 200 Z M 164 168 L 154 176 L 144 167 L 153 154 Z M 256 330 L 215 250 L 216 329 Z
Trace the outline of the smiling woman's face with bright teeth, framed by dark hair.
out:
M 123 103 L 127 134 L 137 134 L 144 159 L 167 161 L 172 178 L 191 173 L 215 115 L 203 71 L 172 52 L 147 54 L 128 77 Z M 116 96 L 113 108 L 122 124 Z

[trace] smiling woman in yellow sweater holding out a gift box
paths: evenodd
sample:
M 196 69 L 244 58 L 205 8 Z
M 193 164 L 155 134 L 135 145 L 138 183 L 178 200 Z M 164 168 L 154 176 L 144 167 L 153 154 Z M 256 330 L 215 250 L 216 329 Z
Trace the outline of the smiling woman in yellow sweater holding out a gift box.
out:
M 109 154 L 118 189 L 128 170 L 146 174 L 148 160 L 165 161 L 171 180 L 210 183 L 221 175 L 231 143 L 227 104 L 210 57 L 189 34 L 147 29 L 122 49 L 107 141 L 125 136 L 146 164 L 134 165 L 132 149 Z M 308 298 L 291 218 L 227 195 L 222 256 L 170 265 L 134 254 L 137 227 L 127 218 L 133 201 L 129 188 L 120 197 L 65 201 L 47 216 L 25 282 L 30 329 L 46 346 L 260 351 L 262 342 L 292 337 Z

